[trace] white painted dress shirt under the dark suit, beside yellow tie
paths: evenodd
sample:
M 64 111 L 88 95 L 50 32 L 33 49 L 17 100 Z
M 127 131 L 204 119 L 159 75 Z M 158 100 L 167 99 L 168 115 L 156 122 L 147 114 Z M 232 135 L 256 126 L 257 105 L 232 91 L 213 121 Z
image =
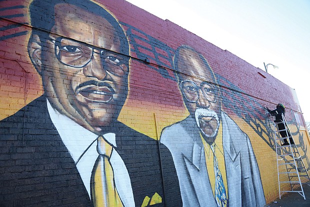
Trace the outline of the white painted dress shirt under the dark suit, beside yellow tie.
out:
M 98 152 L 96 150 L 96 139 L 98 135 L 85 129 L 67 116 L 59 113 L 56 109 L 52 108 L 48 100 L 47 108 L 50 118 L 63 143 L 75 161 L 77 170 L 87 189 L 89 198 L 91 199 L 90 176 L 93 165 L 98 157 Z M 102 136 L 114 147 L 116 147 L 114 133 L 105 133 Z M 89 148 L 87 149 L 88 146 Z M 87 151 L 82 155 L 86 149 Z M 127 168 L 114 148 L 110 156 L 110 163 L 113 168 L 115 186 L 122 203 L 124 206 L 135 206 Z

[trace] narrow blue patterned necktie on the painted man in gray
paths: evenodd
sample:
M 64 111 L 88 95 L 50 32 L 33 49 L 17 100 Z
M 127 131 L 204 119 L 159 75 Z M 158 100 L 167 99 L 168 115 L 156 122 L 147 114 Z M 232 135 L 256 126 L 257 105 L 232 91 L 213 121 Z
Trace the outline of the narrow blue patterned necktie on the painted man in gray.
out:
M 226 190 L 223 182 L 223 178 L 221 176 L 221 173 L 218 168 L 217 159 L 215 156 L 215 151 L 212 145 L 210 145 L 211 150 L 213 152 L 214 157 L 214 174 L 215 174 L 215 192 L 214 197 L 215 201 L 218 207 L 223 207 L 227 205 L 227 196 L 226 196 Z

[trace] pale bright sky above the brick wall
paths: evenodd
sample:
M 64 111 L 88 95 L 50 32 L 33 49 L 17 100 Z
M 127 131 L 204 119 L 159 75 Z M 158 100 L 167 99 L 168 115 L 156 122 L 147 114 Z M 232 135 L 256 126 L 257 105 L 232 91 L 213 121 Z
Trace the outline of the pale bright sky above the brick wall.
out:
M 126 0 L 227 49 L 295 89 L 310 121 L 310 0 Z

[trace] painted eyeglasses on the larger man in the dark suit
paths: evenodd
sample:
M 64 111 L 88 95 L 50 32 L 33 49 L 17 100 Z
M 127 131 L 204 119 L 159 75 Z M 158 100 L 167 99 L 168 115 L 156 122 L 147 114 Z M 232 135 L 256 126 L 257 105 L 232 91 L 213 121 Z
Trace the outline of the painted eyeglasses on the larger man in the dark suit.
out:
M 118 76 L 125 74 L 126 69 L 121 66 L 124 60 L 116 52 L 62 36 L 56 39 L 49 38 L 49 40 L 54 43 L 54 52 L 57 59 L 64 65 L 85 67 L 91 61 L 95 52 L 100 55 L 103 66 L 107 66 L 104 69 Z

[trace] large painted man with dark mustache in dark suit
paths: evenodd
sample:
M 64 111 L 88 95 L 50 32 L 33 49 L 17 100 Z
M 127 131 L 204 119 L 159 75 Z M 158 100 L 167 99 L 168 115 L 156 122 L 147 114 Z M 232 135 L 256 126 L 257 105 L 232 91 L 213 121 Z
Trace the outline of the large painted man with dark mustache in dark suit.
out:
M 0 122 L 1 206 L 180 206 L 168 149 L 117 121 L 129 73 L 117 20 L 86 0 L 33 0 L 29 13 L 44 95 Z

